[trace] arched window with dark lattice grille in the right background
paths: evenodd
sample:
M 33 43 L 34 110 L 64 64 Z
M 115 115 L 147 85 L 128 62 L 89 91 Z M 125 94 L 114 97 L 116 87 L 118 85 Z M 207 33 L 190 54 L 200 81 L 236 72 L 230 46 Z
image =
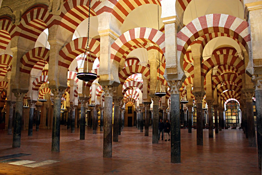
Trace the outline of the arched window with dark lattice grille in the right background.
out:
M 239 104 L 238 102 L 231 100 L 227 102 L 226 105 L 227 110 L 225 111 L 226 114 L 226 123 L 227 125 L 233 126 L 233 123 L 239 123 Z

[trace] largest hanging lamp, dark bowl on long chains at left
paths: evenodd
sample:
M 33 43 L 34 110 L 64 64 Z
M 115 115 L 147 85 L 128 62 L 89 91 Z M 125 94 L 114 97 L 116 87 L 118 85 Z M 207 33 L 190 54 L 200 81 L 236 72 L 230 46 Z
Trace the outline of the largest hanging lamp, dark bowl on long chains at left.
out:
M 88 46 L 88 42 L 89 42 L 89 23 L 90 23 L 90 5 L 91 5 L 91 1 L 89 1 L 89 15 L 88 15 L 88 30 L 87 30 L 87 47 L 85 49 L 85 52 L 84 52 L 84 56 L 82 56 L 82 62 L 80 64 L 80 68 L 83 64 L 83 61 L 85 59 L 85 55 L 87 54 L 87 70 L 86 72 L 79 72 L 76 74 L 76 77 L 80 80 L 83 80 L 83 81 L 91 81 L 91 80 L 95 80 L 97 78 L 97 74 L 96 73 L 91 73 L 91 72 L 88 72 L 88 59 L 89 59 L 89 54 L 90 54 L 90 50 L 89 50 L 89 46 Z M 93 64 L 93 60 L 90 56 L 90 60 Z M 79 69 L 80 70 L 80 69 Z

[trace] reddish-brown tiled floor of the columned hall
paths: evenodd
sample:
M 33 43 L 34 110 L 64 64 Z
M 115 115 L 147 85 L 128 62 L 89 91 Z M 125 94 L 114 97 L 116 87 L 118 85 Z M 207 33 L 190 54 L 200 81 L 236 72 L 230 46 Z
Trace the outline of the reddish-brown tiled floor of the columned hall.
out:
M 103 158 L 103 134 L 97 129 L 96 135 L 86 129 L 85 140 L 79 140 L 78 128 L 71 133 L 61 125 L 59 153 L 51 152 L 51 130 L 34 130 L 31 137 L 22 131 L 21 148 L 11 148 L 12 135 L 0 130 L 0 156 L 26 153 L 31 155 L 18 159 L 33 161 L 27 166 L 0 163 L 0 174 L 261 174 L 257 148 L 248 147 L 243 131 L 223 130 L 208 138 L 204 130 L 204 146 L 197 146 L 196 130 L 189 134 L 182 129 L 182 163 L 175 165 L 170 163 L 170 142 L 152 144 L 151 128 L 145 137 L 137 128 L 125 127 L 119 142 L 113 142 L 113 158 Z M 52 163 L 41 163 L 47 160 Z

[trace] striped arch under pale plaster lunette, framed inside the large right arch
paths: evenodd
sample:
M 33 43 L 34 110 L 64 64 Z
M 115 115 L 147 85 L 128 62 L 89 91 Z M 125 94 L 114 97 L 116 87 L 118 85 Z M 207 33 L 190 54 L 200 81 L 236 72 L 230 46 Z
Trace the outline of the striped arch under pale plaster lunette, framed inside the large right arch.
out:
M 241 60 L 238 56 L 221 54 L 211 56 L 202 63 L 201 75 L 203 77 L 206 77 L 208 71 L 219 65 L 230 65 L 232 67 L 235 67 L 236 69 L 239 69 L 239 75 L 245 73 L 244 60 Z

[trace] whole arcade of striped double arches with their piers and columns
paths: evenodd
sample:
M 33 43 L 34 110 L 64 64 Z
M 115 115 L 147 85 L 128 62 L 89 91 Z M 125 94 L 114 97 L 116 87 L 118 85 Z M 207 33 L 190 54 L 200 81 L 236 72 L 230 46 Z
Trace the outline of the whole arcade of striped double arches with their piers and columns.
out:
M 149 135 L 152 111 L 153 144 L 158 144 L 162 108 L 164 119 L 168 118 L 166 110 L 170 111 L 171 162 L 180 163 L 180 99 L 186 96 L 189 101 L 183 106 L 188 116 L 192 116 L 196 103 L 197 145 L 203 145 L 203 106 L 208 106 L 209 126 L 214 125 L 214 110 L 217 134 L 225 125 L 224 103 L 234 99 L 240 103 L 241 125 L 249 146 L 258 145 L 261 168 L 262 1 L 234 0 L 240 15 L 223 14 L 226 11 L 217 8 L 213 14 L 187 19 L 186 10 L 194 6 L 190 0 L 92 0 L 89 43 L 86 23 L 82 23 L 88 18 L 89 1 L 24 2 L 6 0 L 0 10 L 1 106 L 6 105 L 8 134 L 12 134 L 13 121 L 13 148 L 23 146 L 22 129 L 28 129 L 28 136 L 34 133 L 35 120 L 37 131 L 52 129 L 51 151 L 59 152 L 62 103 L 66 108 L 62 121 L 68 121 L 72 133 L 80 127 L 80 140 L 84 140 L 85 111 L 88 104 L 94 103 L 89 119 L 93 134 L 100 111 L 103 156 L 112 157 L 112 140 L 118 141 L 121 135 L 128 106 L 137 110 L 135 124 L 145 136 Z M 143 6 L 154 12 L 152 16 L 159 7 L 160 30 L 154 25 L 157 19 L 154 23 L 143 23 L 142 19 L 141 23 L 130 22 L 129 15 L 141 12 Z M 219 43 L 221 38 L 230 42 L 214 46 L 214 41 Z M 87 44 L 93 65 L 90 60 L 81 64 L 79 55 Z M 211 50 L 208 56 L 207 47 Z M 98 78 L 78 80 L 76 73 L 87 69 L 97 73 Z M 162 98 L 154 95 L 158 79 L 167 92 Z M 37 102 L 43 96 L 47 102 Z M 26 100 L 29 108 L 23 109 Z M 192 117 L 186 122 L 191 133 Z M 214 137 L 213 127 L 209 127 L 209 137 Z

